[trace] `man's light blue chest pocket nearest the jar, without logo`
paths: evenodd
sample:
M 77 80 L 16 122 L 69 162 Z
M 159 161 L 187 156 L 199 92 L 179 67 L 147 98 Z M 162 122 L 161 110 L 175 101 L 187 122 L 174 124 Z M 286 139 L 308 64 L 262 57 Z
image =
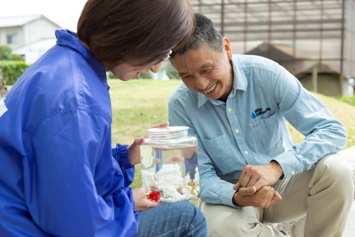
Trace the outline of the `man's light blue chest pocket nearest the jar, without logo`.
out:
M 208 156 L 217 168 L 224 172 L 234 166 L 232 152 L 225 134 L 213 139 L 201 139 Z

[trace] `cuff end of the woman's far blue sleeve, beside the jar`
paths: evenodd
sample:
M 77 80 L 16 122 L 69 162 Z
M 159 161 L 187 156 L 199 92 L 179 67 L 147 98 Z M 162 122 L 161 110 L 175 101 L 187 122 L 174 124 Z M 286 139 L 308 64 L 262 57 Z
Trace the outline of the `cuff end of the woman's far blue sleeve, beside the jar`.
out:
M 116 144 L 116 147 L 112 148 L 112 156 L 116 159 L 121 167 L 126 187 L 131 185 L 134 180 L 134 166 L 131 164 L 127 154 L 128 145 Z

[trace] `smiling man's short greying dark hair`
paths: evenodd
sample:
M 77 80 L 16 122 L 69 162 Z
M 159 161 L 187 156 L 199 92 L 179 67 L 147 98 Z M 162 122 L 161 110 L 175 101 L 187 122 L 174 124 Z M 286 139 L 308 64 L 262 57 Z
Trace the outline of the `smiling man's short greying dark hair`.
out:
M 170 54 L 170 61 L 176 55 L 183 55 L 189 49 L 199 49 L 201 46 L 207 46 L 209 49 L 223 52 L 223 37 L 218 32 L 215 24 L 206 16 L 195 13 L 196 28 L 188 43 L 182 48 L 177 49 Z

